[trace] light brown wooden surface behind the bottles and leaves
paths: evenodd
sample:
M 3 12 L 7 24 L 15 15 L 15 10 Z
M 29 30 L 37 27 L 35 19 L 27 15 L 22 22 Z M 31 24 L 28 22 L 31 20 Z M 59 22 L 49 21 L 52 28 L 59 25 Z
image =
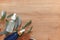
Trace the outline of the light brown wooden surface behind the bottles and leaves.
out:
M 1 0 L 2 10 L 16 12 L 23 24 L 31 19 L 36 40 L 60 40 L 60 0 Z

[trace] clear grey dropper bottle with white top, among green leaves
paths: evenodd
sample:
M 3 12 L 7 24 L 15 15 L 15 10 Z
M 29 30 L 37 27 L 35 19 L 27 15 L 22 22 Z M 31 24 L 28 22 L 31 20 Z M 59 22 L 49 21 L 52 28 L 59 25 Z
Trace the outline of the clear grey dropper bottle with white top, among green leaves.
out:
M 9 21 L 6 31 L 12 33 L 13 29 L 14 29 L 14 25 L 15 25 L 15 21 L 16 20 L 16 13 L 14 13 L 14 15 L 11 17 L 11 20 Z

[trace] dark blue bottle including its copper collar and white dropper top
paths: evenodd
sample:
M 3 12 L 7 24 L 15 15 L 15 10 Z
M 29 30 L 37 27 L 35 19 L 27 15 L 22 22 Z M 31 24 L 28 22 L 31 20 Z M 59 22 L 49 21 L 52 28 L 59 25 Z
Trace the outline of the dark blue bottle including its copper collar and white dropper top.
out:
M 14 32 L 14 33 L 10 34 L 4 40 L 16 40 L 19 36 L 22 35 L 23 32 L 25 32 L 25 29 L 22 29 L 18 32 Z

